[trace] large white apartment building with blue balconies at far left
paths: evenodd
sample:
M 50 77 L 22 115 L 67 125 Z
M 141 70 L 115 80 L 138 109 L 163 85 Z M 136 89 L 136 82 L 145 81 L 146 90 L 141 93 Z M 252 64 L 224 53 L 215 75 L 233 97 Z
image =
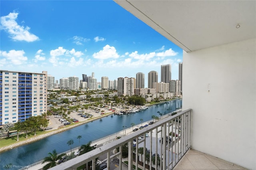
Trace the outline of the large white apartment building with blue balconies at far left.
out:
M 47 71 L 0 70 L 0 81 L 0 125 L 47 112 Z

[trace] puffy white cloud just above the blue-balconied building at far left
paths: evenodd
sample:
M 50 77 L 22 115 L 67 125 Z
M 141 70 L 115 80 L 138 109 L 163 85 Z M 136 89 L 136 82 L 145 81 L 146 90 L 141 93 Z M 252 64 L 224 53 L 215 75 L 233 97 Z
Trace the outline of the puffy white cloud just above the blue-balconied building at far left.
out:
M 0 51 L 0 56 L 5 57 L 7 60 L 14 65 L 20 65 L 24 63 L 24 61 L 28 60 L 28 57 L 24 56 L 25 52 L 23 50 L 10 50 L 9 52 Z

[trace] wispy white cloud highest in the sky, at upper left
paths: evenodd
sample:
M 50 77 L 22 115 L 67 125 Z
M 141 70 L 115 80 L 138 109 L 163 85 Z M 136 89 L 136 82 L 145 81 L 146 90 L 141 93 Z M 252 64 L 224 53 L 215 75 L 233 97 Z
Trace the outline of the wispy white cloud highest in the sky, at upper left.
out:
M 26 26 L 20 26 L 15 21 L 18 17 L 18 13 L 11 12 L 7 16 L 1 17 L 1 30 L 5 30 L 10 34 L 10 38 L 14 41 L 26 41 L 34 42 L 39 40 L 38 36 L 29 32 L 30 28 Z

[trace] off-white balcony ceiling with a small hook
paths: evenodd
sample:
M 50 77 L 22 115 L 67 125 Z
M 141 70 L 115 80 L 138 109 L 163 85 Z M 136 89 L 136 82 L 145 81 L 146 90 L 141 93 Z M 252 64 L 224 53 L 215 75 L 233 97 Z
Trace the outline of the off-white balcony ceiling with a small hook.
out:
M 256 38 L 255 0 L 115 2 L 187 52 Z

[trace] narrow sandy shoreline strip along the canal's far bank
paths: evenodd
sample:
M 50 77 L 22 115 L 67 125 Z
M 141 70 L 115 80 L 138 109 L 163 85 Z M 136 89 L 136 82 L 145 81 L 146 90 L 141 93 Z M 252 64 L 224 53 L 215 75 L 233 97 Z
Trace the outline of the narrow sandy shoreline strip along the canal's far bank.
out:
M 19 146 L 22 146 L 22 145 L 25 145 L 25 144 L 29 144 L 29 143 L 32 143 L 32 142 L 36 142 L 36 141 L 38 141 L 38 140 L 41 140 L 41 139 L 46 138 L 46 137 L 48 137 L 48 136 L 51 136 L 51 135 L 53 135 L 53 134 L 57 134 L 57 133 L 60 133 L 60 132 L 64 132 L 64 131 L 69 130 L 69 129 L 71 129 L 71 128 L 78 127 L 78 126 L 83 125 L 83 124 L 85 124 L 85 123 L 88 123 L 88 122 L 91 122 L 91 121 L 94 121 L 94 120 L 97 120 L 97 119 L 101 119 L 102 117 L 106 117 L 106 116 L 112 115 L 112 114 L 114 114 L 114 112 L 112 112 L 112 113 L 106 113 L 106 114 L 104 114 L 104 115 L 100 115 L 99 117 L 94 117 L 94 118 L 92 118 L 92 119 L 90 119 L 90 120 L 86 120 L 86 121 L 77 123 L 77 124 L 75 124 L 75 125 L 71 125 L 71 126 L 69 126 L 69 127 L 63 127 L 63 128 L 58 129 L 58 130 L 53 130 L 52 132 L 48 132 L 48 133 L 46 133 L 46 134 L 41 134 L 41 135 L 38 135 L 38 136 L 34 136 L 34 137 L 32 137 L 32 138 L 28 138 L 27 140 L 14 143 L 14 144 L 11 144 L 11 145 L 9 145 L 9 146 L 1 147 L 1 148 L 0 148 L 0 152 L 5 152 L 5 151 L 10 150 L 10 149 L 12 149 L 12 148 L 16 148 L 16 147 L 19 147 Z

